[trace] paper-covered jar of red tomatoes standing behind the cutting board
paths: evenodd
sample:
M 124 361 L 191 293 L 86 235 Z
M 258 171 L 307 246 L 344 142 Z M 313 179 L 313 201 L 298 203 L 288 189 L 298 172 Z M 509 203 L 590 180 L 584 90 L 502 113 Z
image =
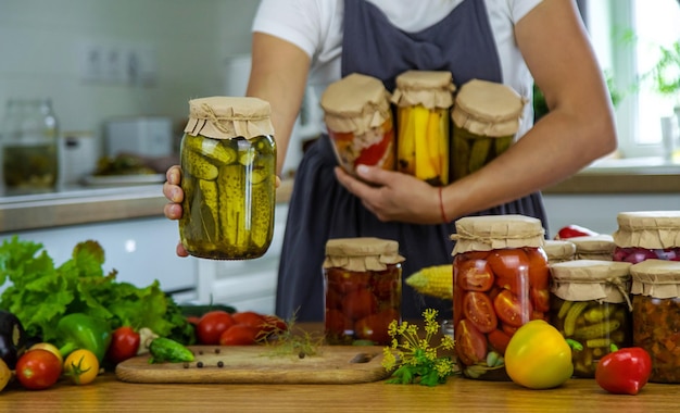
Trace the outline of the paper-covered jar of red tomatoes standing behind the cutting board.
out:
M 391 342 L 388 327 L 392 321 L 401 323 L 403 261 L 393 240 L 328 240 L 324 261 L 328 345 Z

